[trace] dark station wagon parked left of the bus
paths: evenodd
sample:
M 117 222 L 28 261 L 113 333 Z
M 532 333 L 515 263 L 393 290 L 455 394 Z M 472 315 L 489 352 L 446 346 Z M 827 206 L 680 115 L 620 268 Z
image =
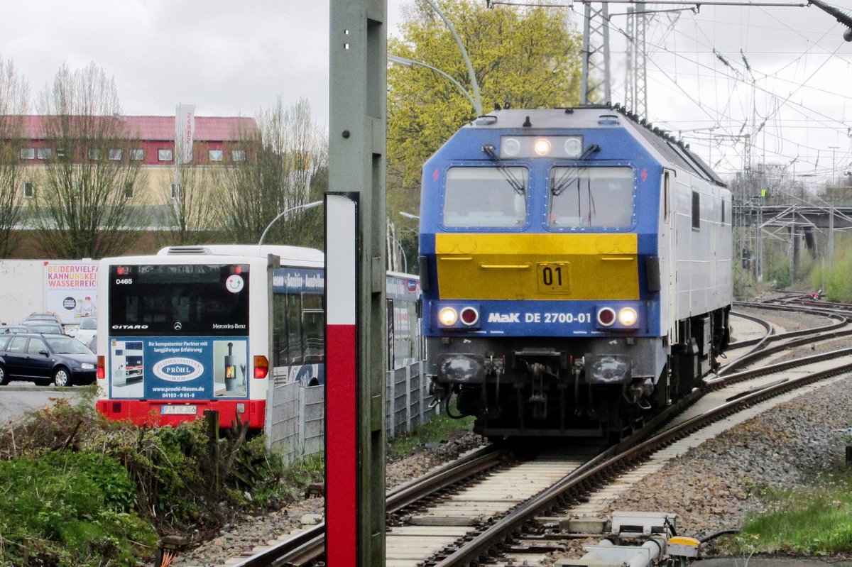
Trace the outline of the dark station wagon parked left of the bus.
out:
M 0 335 L 0 386 L 10 380 L 40 386 L 95 382 L 97 357 L 82 342 L 66 335 Z

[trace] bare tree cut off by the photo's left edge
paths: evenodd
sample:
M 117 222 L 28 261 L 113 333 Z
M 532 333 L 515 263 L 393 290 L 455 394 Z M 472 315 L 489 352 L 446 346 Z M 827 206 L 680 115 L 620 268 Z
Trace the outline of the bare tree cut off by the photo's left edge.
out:
M 21 187 L 24 166 L 20 148 L 25 139 L 25 114 L 29 88 L 12 60 L 0 57 L 0 258 L 8 258 L 17 248 L 23 215 Z

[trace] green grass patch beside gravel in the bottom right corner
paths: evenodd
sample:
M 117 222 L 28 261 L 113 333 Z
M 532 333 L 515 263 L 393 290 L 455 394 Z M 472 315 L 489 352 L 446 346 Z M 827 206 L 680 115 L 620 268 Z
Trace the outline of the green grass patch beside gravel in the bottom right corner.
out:
M 852 471 L 826 473 L 814 484 L 807 490 L 769 492 L 774 511 L 746 518 L 726 551 L 809 556 L 852 552 Z

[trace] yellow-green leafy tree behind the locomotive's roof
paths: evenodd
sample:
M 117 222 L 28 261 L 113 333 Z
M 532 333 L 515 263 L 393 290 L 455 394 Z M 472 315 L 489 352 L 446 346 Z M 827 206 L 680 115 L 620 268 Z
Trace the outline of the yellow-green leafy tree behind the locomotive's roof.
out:
M 579 103 L 582 41 L 566 9 L 488 9 L 479 0 L 438 4 L 468 51 L 483 107 Z M 389 53 L 438 68 L 472 92 L 451 32 L 427 3 L 417 0 L 400 30 L 401 37 L 389 40 Z M 388 89 L 388 209 L 395 215 L 416 212 L 423 162 L 475 111 L 457 86 L 423 66 L 390 66 Z

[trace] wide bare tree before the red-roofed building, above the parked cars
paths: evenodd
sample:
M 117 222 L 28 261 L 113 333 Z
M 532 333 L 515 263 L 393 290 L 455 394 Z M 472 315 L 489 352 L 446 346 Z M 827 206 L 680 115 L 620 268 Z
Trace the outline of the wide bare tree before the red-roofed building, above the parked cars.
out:
M 145 174 L 130 158 L 137 135 L 121 117 L 115 82 L 95 63 L 62 66 L 39 104 L 43 138 L 55 144 L 32 202 L 39 247 L 64 258 L 123 253 L 147 226 L 129 200 Z

